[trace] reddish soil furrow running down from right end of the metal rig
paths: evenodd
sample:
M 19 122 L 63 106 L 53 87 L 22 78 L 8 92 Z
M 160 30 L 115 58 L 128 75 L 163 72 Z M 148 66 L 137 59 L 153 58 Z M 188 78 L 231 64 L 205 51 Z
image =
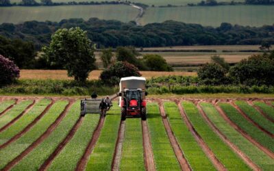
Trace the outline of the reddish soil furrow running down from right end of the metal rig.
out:
M 95 148 L 95 145 L 96 145 L 97 140 L 100 136 L 101 129 L 103 127 L 104 122 L 105 122 L 105 118 L 100 118 L 99 123 L 98 123 L 95 131 L 93 132 L 92 138 L 91 138 L 90 142 L 88 143 L 88 146 L 86 147 L 85 153 L 82 156 L 82 158 L 79 160 L 79 162 L 77 163 L 77 168 L 75 170 L 77 170 L 77 171 L 85 170 L 86 164 L 88 163 L 89 156 L 92 153 L 93 148 Z

